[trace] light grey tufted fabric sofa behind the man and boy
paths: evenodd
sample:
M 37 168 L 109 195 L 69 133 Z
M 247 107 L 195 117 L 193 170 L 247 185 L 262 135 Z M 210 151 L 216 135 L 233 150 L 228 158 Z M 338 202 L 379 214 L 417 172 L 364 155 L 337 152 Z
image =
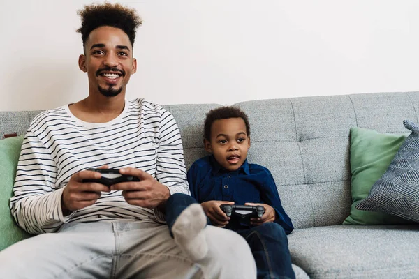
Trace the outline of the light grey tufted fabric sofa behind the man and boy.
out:
M 419 92 L 317 96 L 237 103 L 251 124 L 249 161 L 272 172 L 295 231 L 297 278 L 419 278 L 419 225 L 341 225 L 351 207 L 349 130 L 406 133 Z M 205 156 L 203 120 L 216 104 L 168 105 L 186 167 Z M 0 112 L 0 135 L 22 134 L 38 112 Z

